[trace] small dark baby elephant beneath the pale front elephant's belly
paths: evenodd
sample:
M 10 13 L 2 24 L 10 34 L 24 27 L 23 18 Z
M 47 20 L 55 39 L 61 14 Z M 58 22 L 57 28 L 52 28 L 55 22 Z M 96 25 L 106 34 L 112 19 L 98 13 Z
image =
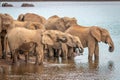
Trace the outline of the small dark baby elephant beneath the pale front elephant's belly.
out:
M 29 54 L 31 52 L 34 52 L 34 54 L 35 54 L 36 46 L 37 46 L 37 44 L 35 42 L 23 43 L 22 45 L 19 46 L 18 49 L 16 49 L 16 52 L 18 52 L 18 53 L 22 52 L 25 55 L 25 62 L 27 63 Z M 19 57 L 19 55 L 18 55 L 18 57 Z

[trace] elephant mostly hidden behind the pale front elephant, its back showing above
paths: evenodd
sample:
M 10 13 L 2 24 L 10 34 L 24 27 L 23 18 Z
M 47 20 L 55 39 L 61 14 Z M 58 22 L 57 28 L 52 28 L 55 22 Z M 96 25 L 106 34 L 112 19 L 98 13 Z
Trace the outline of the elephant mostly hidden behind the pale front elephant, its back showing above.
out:
M 5 58 L 5 55 L 3 54 L 3 50 L 4 50 L 4 37 L 6 35 L 7 32 L 9 32 L 12 28 L 15 27 L 24 27 L 27 29 L 32 29 L 32 30 L 36 30 L 36 29 L 43 29 L 45 30 L 45 27 L 43 24 L 39 23 L 39 22 L 30 22 L 30 21 L 17 21 L 17 20 L 13 20 L 12 23 L 10 25 L 4 26 L 4 30 L 2 31 L 2 35 L 1 35 L 1 43 L 2 43 L 2 58 Z

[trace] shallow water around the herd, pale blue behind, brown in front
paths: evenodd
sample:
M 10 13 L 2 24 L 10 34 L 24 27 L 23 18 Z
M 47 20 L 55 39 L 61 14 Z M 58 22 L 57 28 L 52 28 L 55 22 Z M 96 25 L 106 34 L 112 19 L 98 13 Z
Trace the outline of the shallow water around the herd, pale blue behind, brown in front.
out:
M 64 4 L 63 4 L 64 3 Z M 52 15 L 75 17 L 78 24 L 98 25 L 106 28 L 113 39 L 115 50 L 108 52 L 108 45 L 99 43 L 99 62 L 88 62 L 87 48 L 82 56 L 67 63 L 44 62 L 36 66 L 32 62 L 18 65 L 0 64 L 0 80 L 119 80 L 120 77 L 120 2 L 39 2 L 36 7 L 2 8 L 15 19 L 21 13 L 34 12 L 48 18 Z

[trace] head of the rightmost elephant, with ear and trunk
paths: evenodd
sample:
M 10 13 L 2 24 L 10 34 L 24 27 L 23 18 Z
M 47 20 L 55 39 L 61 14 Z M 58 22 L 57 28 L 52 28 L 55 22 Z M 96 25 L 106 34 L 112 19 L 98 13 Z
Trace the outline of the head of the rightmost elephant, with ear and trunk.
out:
M 90 29 L 91 35 L 98 41 L 102 41 L 109 45 L 109 51 L 114 51 L 114 43 L 110 37 L 109 32 L 106 29 L 93 26 Z

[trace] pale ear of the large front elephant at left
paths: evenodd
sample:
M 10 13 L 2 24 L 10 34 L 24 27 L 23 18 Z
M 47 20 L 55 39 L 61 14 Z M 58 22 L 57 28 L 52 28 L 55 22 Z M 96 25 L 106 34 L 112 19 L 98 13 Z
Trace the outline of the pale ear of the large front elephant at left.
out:
M 54 45 L 52 38 L 47 34 L 42 35 L 42 43 L 45 45 Z

